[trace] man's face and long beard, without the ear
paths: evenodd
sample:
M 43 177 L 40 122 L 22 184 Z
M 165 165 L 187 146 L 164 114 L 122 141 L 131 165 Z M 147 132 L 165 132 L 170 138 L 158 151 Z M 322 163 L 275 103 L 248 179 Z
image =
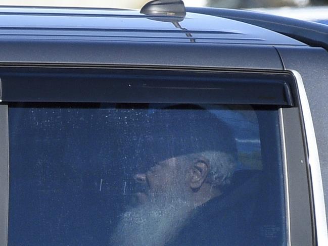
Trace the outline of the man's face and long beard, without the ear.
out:
M 134 175 L 146 189 L 136 194 L 137 206 L 123 214 L 111 245 L 164 246 L 174 237 L 191 211 L 185 199 L 187 166 L 170 158 Z

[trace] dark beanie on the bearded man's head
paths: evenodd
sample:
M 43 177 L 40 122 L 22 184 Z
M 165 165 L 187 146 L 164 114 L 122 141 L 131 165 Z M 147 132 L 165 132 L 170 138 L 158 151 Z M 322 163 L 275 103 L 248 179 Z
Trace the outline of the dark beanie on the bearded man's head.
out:
M 220 151 L 237 156 L 231 129 L 216 115 L 195 105 L 177 105 L 148 110 L 131 120 L 130 156 L 136 162 L 161 162 L 166 159 Z

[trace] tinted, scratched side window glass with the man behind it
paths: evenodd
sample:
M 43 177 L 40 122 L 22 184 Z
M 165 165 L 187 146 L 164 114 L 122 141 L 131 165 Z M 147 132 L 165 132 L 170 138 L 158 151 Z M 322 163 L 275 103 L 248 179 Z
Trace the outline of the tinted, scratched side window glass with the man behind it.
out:
M 273 107 L 26 104 L 9 124 L 9 246 L 286 243 Z

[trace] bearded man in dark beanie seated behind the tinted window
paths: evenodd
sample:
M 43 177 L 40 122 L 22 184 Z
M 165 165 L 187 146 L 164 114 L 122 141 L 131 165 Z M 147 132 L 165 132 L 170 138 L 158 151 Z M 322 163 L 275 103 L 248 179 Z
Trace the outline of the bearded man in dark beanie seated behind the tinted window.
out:
M 156 164 L 134 175 L 144 189 L 135 194 L 137 205 L 122 215 L 110 245 L 231 242 L 228 227 L 236 224 L 220 199 L 237 162 L 232 131 L 195 106 L 170 107 L 146 118 L 140 123 L 144 135 L 137 137 L 139 154 Z

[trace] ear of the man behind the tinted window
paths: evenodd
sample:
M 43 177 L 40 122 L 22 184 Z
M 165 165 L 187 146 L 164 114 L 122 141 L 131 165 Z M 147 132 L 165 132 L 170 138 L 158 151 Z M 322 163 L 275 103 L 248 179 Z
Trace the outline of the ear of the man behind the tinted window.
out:
M 204 183 L 209 172 L 209 165 L 203 161 L 196 162 L 191 168 L 190 187 L 198 189 Z

